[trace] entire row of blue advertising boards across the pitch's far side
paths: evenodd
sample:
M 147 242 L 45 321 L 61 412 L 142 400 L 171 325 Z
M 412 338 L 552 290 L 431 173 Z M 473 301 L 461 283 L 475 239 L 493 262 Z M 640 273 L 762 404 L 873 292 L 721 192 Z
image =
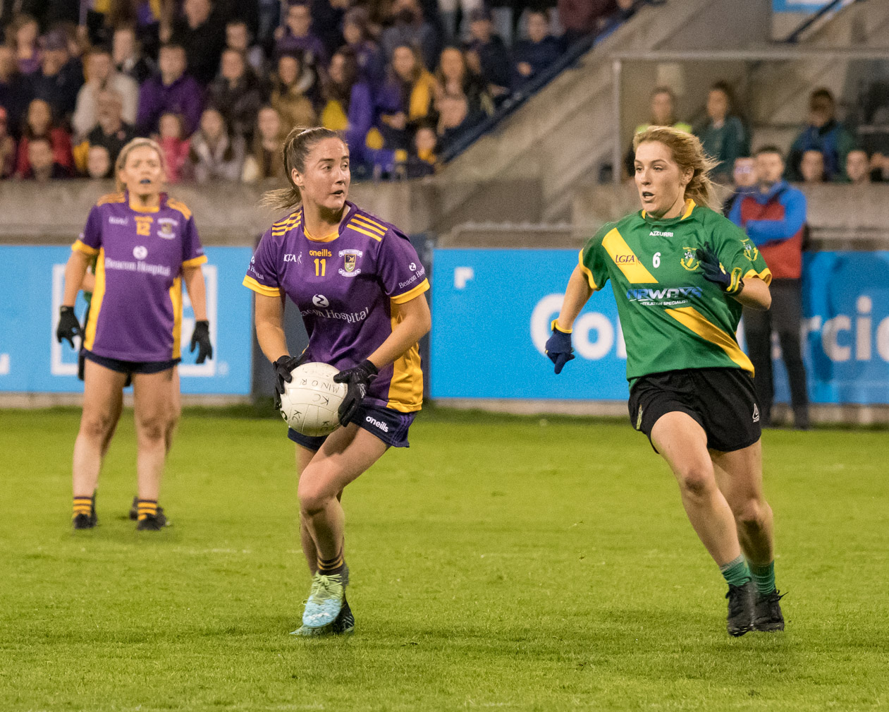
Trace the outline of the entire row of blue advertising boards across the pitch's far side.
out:
M 256 392 L 252 295 L 241 280 L 252 250 L 208 247 L 206 253 L 214 358 L 198 366 L 188 353 L 194 316 L 186 295 L 182 392 L 250 395 Z M 0 246 L 0 392 L 83 387 L 76 378 L 76 351 L 55 340 L 68 254 L 67 247 Z M 424 358 L 433 399 L 626 399 L 626 351 L 610 288 L 581 312 L 573 337 L 578 358 L 564 374 L 555 376 L 543 353 L 576 251 L 424 247 L 421 254 L 434 261 L 433 329 Z M 804 285 L 811 400 L 889 404 L 889 251 L 807 254 Z M 84 307 L 79 301 L 78 316 Z M 780 361 L 775 384 L 777 400 L 787 401 Z

